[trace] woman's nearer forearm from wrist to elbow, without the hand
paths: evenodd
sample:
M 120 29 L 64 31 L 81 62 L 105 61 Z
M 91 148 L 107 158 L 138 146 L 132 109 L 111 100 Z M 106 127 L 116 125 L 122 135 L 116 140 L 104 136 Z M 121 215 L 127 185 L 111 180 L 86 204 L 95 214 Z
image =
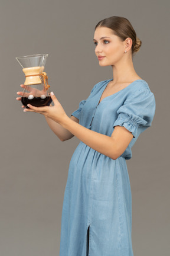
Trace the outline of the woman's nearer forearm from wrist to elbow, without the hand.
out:
M 117 147 L 113 137 L 89 130 L 84 126 L 81 126 L 79 123 L 69 119 L 69 117 L 66 117 L 62 121 L 61 126 L 69 130 L 74 136 L 90 148 L 93 148 L 112 159 L 117 158 Z

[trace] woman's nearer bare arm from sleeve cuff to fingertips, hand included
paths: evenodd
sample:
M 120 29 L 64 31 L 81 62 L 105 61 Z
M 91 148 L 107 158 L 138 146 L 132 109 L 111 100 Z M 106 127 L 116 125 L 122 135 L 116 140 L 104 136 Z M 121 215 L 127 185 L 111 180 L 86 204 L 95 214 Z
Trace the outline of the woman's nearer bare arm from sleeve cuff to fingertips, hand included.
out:
M 115 126 L 112 136 L 89 130 L 67 116 L 53 92 L 51 92 L 51 98 L 54 102 L 53 107 L 33 107 L 28 104 L 30 108 L 26 108 L 24 111 L 44 114 L 44 116 L 60 124 L 64 129 L 68 130 L 90 148 L 114 160 L 122 155 L 133 139 L 132 133 L 125 127 Z

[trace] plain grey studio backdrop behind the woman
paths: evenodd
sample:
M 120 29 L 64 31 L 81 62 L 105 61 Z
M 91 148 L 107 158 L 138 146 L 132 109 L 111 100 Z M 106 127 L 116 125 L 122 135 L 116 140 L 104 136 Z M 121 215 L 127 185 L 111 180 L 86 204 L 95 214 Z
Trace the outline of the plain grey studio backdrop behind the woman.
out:
M 112 78 L 111 67 L 99 66 L 93 36 L 113 15 L 128 18 L 142 40 L 133 62 L 156 98 L 152 127 L 127 161 L 134 256 L 169 255 L 169 7 L 168 0 L 1 0 L 1 256 L 59 255 L 68 165 L 79 143 L 61 142 L 44 116 L 23 112 L 15 57 L 48 53 L 49 84 L 70 116 L 97 82 Z

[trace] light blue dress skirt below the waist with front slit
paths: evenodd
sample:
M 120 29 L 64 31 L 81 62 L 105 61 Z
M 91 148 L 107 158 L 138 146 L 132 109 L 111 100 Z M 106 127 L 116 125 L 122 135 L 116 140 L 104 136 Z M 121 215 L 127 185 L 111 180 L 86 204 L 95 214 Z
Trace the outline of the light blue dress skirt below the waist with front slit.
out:
M 131 226 L 125 158 L 113 160 L 80 142 L 68 169 L 60 256 L 132 256 Z

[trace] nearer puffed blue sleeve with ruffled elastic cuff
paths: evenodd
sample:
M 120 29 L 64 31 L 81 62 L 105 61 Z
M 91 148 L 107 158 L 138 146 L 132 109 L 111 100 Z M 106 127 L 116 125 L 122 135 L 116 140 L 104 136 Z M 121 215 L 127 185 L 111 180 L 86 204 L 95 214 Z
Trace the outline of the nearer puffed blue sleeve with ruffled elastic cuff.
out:
M 136 91 L 117 110 L 118 116 L 113 127 L 124 126 L 136 137 L 151 126 L 155 108 L 155 96 L 150 89 Z

